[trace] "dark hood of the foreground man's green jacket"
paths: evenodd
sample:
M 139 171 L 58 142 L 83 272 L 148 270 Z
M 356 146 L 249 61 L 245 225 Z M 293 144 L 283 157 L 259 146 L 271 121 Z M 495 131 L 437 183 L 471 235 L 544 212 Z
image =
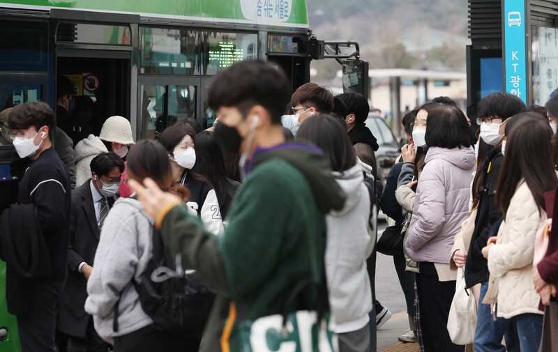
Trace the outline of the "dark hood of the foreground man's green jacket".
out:
M 335 182 L 329 161 L 324 158 L 321 149 L 317 146 L 296 141 L 271 148 L 258 147 L 248 162 L 246 172 L 249 173 L 258 164 L 273 158 L 281 158 L 301 171 L 308 180 L 316 204 L 323 214 L 329 214 L 332 210 L 340 211 L 343 208 L 347 195 Z

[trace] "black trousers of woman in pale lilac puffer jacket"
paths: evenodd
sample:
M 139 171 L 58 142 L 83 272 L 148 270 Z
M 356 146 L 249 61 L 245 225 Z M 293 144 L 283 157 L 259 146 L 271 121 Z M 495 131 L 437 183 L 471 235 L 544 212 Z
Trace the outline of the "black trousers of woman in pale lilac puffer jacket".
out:
M 421 273 L 416 275 L 418 300 L 421 309 L 421 328 L 426 351 L 463 352 L 464 346 L 451 342 L 448 333 L 448 315 L 455 294 L 455 281 L 438 280 L 432 263 L 420 263 Z

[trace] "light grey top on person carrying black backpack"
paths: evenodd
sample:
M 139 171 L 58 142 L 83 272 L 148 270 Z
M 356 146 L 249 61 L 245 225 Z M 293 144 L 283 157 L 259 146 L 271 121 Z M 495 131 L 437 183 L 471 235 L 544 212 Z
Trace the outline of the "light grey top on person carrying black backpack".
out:
M 151 259 L 150 218 L 133 198 L 121 198 L 110 209 L 95 254 L 95 267 L 87 282 L 85 311 L 93 316 L 95 330 L 105 341 L 126 335 L 153 321 L 145 314 L 132 284 Z M 114 332 L 114 306 L 119 303 L 119 332 Z

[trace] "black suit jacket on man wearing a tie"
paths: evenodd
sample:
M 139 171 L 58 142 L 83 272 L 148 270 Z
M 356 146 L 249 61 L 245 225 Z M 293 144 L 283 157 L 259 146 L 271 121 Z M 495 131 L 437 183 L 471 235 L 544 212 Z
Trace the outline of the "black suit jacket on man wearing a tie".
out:
M 68 278 L 60 297 L 56 323 L 58 330 L 77 337 L 85 337 L 85 330 L 89 323 L 89 314 L 84 309 L 87 281 L 77 268 L 83 261 L 93 266 L 100 236 L 90 181 L 91 178 L 72 192 Z

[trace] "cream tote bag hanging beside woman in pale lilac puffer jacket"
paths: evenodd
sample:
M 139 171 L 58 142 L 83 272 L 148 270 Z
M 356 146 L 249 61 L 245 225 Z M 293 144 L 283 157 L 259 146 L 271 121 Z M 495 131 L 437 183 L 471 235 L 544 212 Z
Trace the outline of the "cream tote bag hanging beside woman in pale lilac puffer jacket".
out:
M 464 250 L 465 245 L 462 245 Z M 476 328 L 476 302 L 472 292 L 465 288 L 465 270 L 458 268 L 455 295 L 448 315 L 448 333 L 454 344 L 472 344 Z

